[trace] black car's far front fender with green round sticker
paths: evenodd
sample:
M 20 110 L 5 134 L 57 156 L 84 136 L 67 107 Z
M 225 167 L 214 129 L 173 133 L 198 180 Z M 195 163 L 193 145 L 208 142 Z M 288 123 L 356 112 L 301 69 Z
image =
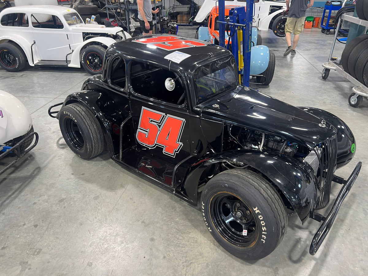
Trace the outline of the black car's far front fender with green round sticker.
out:
M 357 145 L 355 144 L 355 138 L 353 132 L 346 123 L 343 122 L 339 117 L 334 114 L 327 112 L 326 110 L 314 108 L 314 107 L 299 107 L 306 112 L 309 112 L 321 119 L 326 120 L 328 123 L 332 124 L 336 130 L 337 138 L 337 164 L 336 169 L 342 167 L 350 162 L 355 155 L 355 149 Z

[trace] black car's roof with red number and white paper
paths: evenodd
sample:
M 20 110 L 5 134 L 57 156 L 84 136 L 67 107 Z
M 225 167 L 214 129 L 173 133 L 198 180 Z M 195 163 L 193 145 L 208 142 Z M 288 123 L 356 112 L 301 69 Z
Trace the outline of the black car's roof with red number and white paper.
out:
M 163 49 L 175 43 L 178 47 L 185 46 L 172 50 Z M 188 57 L 180 63 L 174 62 L 173 59 L 169 60 L 170 56 L 167 57 L 167 55 L 171 54 L 172 56 L 175 52 Z M 166 68 L 186 72 L 191 72 L 210 60 L 230 54 L 228 50 L 202 40 L 167 34 L 138 36 L 116 42 L 107 49 L 107 59 L 110 59 L 109 55 L 116 53 L 124 54 L 127 59 L 145 60 Z

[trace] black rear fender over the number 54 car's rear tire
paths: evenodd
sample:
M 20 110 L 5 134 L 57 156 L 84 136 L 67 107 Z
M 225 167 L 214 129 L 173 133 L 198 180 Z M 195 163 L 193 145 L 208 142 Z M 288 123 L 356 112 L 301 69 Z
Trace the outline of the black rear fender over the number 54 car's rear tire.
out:
M 105 137 L 105 142 L 107 148 L 109 149 L 110 157 L 112 157 L 114 155 L 114 146 L 112 140 L 113 131 L 110 122 L 106 119 L 105 114 L 101 112 L 101 109 L 98 104 L 99 102 L 106 102 L 104 98 L 105 97 L 103 96 L 103 94 L 97 91 L 93 90 L 81 91 L 67 96 L 67 98 L 64 100 L 63 107 L 70 103 L 79 102 L 83 106 L 91 110 L 93 114 L 95 114 L 102 127 L 103 136 Z M 56 115 L 57 119 L 59 119 L 59 113 Z

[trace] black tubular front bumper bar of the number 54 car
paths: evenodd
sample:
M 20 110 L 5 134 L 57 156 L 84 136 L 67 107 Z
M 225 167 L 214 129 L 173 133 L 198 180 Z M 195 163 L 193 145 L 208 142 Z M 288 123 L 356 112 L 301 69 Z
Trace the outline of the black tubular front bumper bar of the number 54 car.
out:
M 316 254 L 316 252 L 317 252 L 318 248 L 321 246 L 323 240 L 325 240 L 325 238 L 327 236 L 327 233 L 330 231 L 330 228 L 331 228 L 333 222 L 335 221 L 335 218 L 336 218 L 337 212 L 339 211 L 340 205 L 342 204 L 343 200 L 345 199 L 346 195 L 348 194 L 348 192 L 350 191 L 351 187 L 353 186 L 355 180 L 357 179 L 361 167 L 362 167 L 362 162 L 358 162 L 357 166 L 355 166 L 355 169 L 350 174 L 350 177 L 347 179 L 346 182 L 344 181 L 344 186 L 340 190 L 339 195 L 337 196 L 330 212 L 328 213 L 328 215 L 326 217 L 322 216 L 319 213 L 315 213 L 315 212 L 311 213 L 310 217 L 312 219 L 318 220 L 320 222 L 323 220 L 323 223 L 321 224 L 318 231 L 316 232 L 316 234 L 313 237 L 311 246 L 309 247 L 309 254 L 311 254 L 311 255 Z

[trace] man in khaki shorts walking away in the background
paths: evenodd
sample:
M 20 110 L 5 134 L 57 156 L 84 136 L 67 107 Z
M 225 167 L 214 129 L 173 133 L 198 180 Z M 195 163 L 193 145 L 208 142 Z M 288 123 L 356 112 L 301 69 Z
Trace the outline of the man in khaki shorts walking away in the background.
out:
M 309 2 L 309 3 L 308 3 Z M 285 38 L 287 49 L 284 56 L 296 54 L 295 48 L 298 45 L 299 35 L 303 31 L 305 10 L 313 6 L 314 0 L 286 0 L 287 20 L 285 24 Z M 291 33 L 294 31 L 293 47 L 291 47 Z

